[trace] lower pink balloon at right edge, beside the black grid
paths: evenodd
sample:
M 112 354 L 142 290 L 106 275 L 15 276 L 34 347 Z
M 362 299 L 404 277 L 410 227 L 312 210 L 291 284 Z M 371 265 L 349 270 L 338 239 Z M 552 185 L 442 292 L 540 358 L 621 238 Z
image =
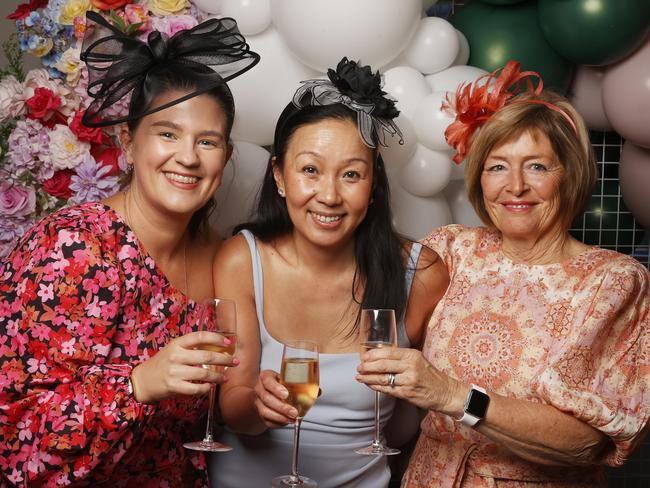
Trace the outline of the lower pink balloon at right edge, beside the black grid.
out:
M 643 227 L 650 229 L 650 149 L 626 141 L 618 175 L 625 205 Z

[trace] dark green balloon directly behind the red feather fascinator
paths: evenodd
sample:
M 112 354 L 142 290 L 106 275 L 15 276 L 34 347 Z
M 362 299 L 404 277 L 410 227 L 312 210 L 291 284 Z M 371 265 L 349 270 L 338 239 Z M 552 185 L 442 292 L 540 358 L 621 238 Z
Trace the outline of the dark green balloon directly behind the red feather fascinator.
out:
M 568 90 L 573 64 L 546 41 L 535 2 L 510 7 L 474 2 L 458 8 L 450 21 L 469 43 L 467 64 L 494 71 L 515 59 L 522 70 L 538 72 L 545 87 L 559 93 Z

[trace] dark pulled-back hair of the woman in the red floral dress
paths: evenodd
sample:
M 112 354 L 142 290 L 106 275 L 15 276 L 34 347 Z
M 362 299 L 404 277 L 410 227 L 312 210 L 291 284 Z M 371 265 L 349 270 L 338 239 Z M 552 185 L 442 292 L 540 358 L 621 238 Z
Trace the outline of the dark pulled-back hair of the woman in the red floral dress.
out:
M 160 67 L 152 70 L 146 79 L 145 89 L 141 90 L 139 96 L 133 97 L 129 104 L 129 114 L 145 113 L 151 108 L 157 97 L 173 91 L 192 92 L 197 88 L 197 81 L 192 77 L 192 71 L 186 70 L 182 74 L 177 73 L 166 67 Z M 217 84 L 215 87 L 204 92 L 209 95 L 219 104 L 226 116 L 226 133 L 224 134 L 225 140 L 230 144 L 230 132 L 235 120 L 235 100 L 233 99 L 232 92 L 226 82 Z M 133 134 L 137 129 L 142 118 L 130 118 L 127 122 L 129 132 Z M 198 235 L 207 236 L 209 233 L 209 219 L 212 212 L 216 207 L 214 196 L 211 197 L 205 205 L 198 209 L 188 224 L 188 232 L 192 239 Z

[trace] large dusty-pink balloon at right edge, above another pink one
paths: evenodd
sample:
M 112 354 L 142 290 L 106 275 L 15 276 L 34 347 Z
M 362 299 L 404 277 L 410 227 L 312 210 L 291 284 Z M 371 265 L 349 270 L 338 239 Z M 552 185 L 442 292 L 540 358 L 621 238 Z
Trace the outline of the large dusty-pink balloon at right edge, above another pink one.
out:
M 603 104 L 616 132 L 637 146 L 650 147 L 650 37 L 632 55 L 607 68 Z

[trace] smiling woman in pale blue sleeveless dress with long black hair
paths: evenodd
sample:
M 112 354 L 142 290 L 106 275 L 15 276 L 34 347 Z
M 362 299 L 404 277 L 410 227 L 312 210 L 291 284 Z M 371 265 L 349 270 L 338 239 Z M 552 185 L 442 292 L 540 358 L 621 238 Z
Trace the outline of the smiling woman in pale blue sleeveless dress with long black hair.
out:
M 301 472 L 321 488 L 387 486 L 386 458 L 354 453 L 374 425 L 374 394 L 354 381 L 360 311 L 395 309 L 399 343 L 415 346 L 447 286 L 436 254 L 391 224 L 378 145 L 385 131 L 399 135 L 398 112 L 379 75 L 344 58 L 328 76 L 304 82 L 281 114 L 257 218 L 215 259 L 217 293 L 237 301 L 241 360 L 221 387 L 223 440 L 235 449 L 212 458 L 219 487 L 268 486 L 287 469 L 298 412 L 277 370 L 282 343 L 295 339 L 321 352 Z M 394 406 L 382 400 L 382 424 Z

